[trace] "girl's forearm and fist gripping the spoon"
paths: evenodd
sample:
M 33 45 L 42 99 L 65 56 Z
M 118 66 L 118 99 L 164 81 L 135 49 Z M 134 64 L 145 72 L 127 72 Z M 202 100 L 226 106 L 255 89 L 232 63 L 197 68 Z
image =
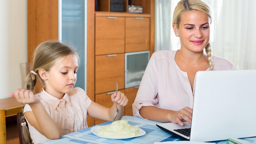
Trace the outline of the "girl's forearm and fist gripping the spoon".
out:
M 124 113 L 124 106 L 128 103 L 128 99 L 122 92 L 113 93 L 111 95 L 111 99 L 114 103 L 110 108 L 92 101 L 90 106 L 88 107 L 88 115 L 94 118 L 102 119 L 104 121 L 112 122 L 114 120 L 114 115 L 116 111 L 115 102 L 117 102 L 119 109 L 119 115 L 117 120 L 120 120 Z

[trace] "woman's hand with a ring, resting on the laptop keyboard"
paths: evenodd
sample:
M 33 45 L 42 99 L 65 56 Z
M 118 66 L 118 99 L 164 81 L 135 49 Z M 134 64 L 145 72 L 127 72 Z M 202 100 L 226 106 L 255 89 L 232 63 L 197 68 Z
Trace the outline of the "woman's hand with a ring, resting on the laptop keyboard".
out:
M 183 109 L 176 111 L 172 115 L 172 123 L 179 124 L 183 126 L 182 122 L 189 122 L 191 124 L 192 119 L 192 109 L 189 107 L 184 107 Z

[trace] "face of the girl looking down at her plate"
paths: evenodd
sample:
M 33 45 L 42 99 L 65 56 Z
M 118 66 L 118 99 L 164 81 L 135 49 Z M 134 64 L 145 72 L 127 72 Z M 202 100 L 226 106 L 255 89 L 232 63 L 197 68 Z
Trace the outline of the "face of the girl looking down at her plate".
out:
M 76 56 L 64 56 L 55 61 L 45 81 L 45 91 L 61 98 L 70 93 L 77 81 L 78 59 Z

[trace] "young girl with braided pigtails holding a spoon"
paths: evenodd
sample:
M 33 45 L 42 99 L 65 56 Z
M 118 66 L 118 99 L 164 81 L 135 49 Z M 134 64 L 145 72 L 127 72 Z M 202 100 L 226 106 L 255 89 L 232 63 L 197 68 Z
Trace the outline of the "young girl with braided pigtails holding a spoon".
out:
M 128 103 L 123 93 L 112 94 L 114 104 L 107 108 L 91 101 L 83 89 L 73 88 L 78 65 L 78 54 L 67 45 L 47 41 L 37 46 L 33 68 L 27 76 L 27 90 L 18 88 L 15 93 L 10 93 L 18 102 L 26 104 L 23 112 L 25 118 L 22 117 L 25 143 L 59 139 L 62 135 L 87 128 L 87 115 L 113 121 L 116 102 L 118 120 L 122 118 L 123 106 Z M 34 95 L 37 76 L 44 87 L 41 93 Z

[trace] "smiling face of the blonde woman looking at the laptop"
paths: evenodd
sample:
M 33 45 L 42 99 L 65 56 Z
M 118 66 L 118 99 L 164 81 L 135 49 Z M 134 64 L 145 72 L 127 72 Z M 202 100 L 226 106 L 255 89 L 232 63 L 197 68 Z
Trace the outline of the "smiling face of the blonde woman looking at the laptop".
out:
M 173 25 L 180 37 L 180 49 L 202 52 L 210 39 L 210 17 L 199 10 L 191 10 L 181 15 L 179 28 Z

